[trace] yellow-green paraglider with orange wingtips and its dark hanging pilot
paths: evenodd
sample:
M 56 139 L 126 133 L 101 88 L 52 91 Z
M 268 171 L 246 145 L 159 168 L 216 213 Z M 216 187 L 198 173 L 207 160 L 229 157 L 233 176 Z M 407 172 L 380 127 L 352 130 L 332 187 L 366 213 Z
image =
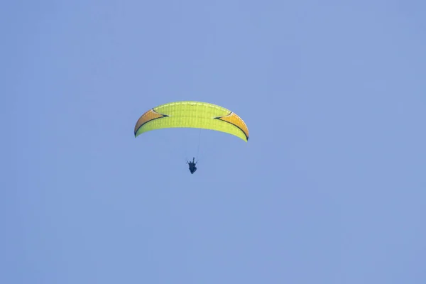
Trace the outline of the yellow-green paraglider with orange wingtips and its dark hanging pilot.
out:
M 210 129 L 249 141 L 249 129 L 233 111 L 216 104 L 194 101 L 170 102 L 153 107 L 138 119 L 134 135 L 136 138 L 148 131 L 168 128 Z M 192 174 L 197 170 L 194 160 L 195 158 L 192 160 L 193 170 L 191 162 L 187 162 Z

